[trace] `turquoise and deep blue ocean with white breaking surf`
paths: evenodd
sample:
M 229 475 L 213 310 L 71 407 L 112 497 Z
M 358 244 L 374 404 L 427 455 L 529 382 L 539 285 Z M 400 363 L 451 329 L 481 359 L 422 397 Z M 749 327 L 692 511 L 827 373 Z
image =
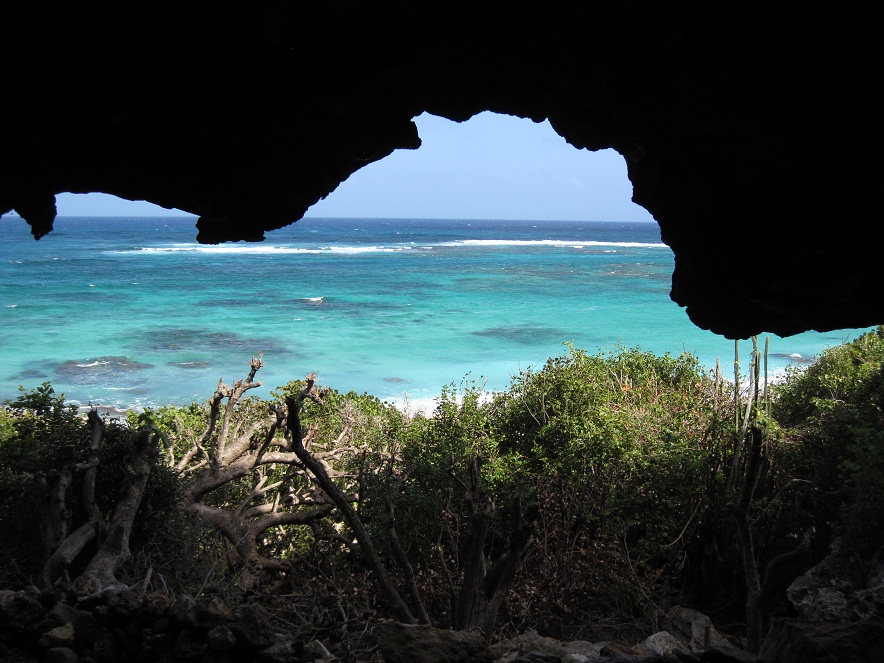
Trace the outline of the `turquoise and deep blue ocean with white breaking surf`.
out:
M 37 242 L 0 220 L 0 401 L 50 381 L 81 404 L 182 405 L 259 352 L 255 395 L 316 372 L 411 409 L 465 379 L 505 389 L 569 342 L 732 372 L 733 341 L 669 299 L 654 223 L 306 218 L 219 246 L 197 244 L 194 223 L 60 217 Z M 771 336 L 770 368 L 860 333 Z

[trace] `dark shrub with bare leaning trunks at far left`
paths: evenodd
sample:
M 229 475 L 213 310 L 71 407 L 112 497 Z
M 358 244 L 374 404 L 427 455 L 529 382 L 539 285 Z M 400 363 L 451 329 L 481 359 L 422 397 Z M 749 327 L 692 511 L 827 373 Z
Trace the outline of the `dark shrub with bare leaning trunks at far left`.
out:
M 83 419 L 48 383 L 23 391 L 6 407 L 2 464 L 15 468 L 24 490 L 4 502 L 39 514 L 39 584 L 70 580 L 76 563 L 82 571 L 71 589 L 77 594 L 125 587 L 117 574 L 131 556 L 129 541 L 153 469 L 156 437 L 147 429 L 108 427 L 95 410 Z M 121 462 L 108 463 L 113 456 Z M 106 483 L 114 488 L 99 490 L 102 475 L 113 476 Z

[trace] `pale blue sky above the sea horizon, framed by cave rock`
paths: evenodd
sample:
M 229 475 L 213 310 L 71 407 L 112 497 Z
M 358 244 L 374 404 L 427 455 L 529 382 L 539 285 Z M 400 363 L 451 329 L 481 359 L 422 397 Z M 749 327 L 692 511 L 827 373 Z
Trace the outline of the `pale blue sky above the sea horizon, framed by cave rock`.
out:
M 341 183 L 306 216 L 653 221 L 631 201 L 614 150 L 577 150 L 549 122 L 481 113 L 456 123 L 415 118 L 423 145 L 397 150 Z M 59 216 L 180 216 L 144 201 L 61 194 Z

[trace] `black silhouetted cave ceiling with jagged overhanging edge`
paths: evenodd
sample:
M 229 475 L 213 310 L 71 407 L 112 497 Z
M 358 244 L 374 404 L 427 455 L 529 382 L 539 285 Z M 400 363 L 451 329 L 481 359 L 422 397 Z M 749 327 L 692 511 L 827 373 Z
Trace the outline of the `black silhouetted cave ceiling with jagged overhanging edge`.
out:
M 0 213 L 39 237 L 102 191 L 260 240 L 417 148 L 416 115 L 491 110 L 626 158 L 697 325 L 877 324 L 877 22 L 774 4 L 6 2 Z

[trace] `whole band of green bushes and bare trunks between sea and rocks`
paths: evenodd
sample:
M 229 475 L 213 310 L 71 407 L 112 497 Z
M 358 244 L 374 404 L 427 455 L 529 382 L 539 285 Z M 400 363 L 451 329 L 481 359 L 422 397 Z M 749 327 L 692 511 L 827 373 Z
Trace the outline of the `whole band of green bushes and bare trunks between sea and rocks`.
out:
M 768 390 L 760 352 L 747 387 L 687 354 L 568 348 L 429 416 L 312 376 L 261 401 L 260 366 L 127 421 L 48 384 L 7 402 L 0 588 L 248 592 L 316 632 L 386 615 L 488 637 L 637 636 L 680 603 L 748 611 L 751 647 L 835 536 L 882 544 L 882 328 Z

